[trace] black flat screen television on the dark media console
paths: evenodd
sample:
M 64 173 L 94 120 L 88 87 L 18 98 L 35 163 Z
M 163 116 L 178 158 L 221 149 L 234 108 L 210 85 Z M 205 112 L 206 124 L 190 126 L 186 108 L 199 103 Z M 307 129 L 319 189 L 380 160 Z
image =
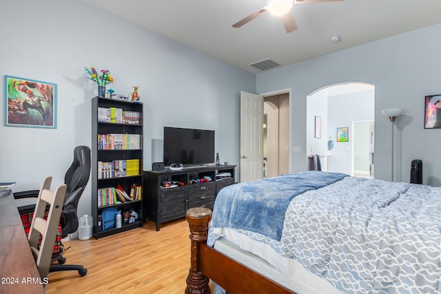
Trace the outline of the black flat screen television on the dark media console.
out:
M 214 162 L 214 131 L 164 127 L 164 165 L 204 165 Z

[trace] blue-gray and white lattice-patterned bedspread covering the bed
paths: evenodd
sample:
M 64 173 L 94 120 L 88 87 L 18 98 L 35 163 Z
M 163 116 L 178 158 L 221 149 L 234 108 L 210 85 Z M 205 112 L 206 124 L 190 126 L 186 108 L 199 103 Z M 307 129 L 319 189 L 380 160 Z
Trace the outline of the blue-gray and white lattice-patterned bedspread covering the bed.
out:
M 346 177 L 291 200 L 280 241 L 237 231 L 344 293 L 441 293 L 441 188 Z

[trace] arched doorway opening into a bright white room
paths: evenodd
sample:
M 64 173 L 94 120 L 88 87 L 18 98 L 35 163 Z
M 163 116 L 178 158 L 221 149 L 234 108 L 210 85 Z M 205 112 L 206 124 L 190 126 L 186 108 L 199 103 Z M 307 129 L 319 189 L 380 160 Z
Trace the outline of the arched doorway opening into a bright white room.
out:
M 311 93 L 307 97 L 307 155 L 320 155 L 324 171 L 372 178 L 374 105 L 375 87 L 369 83 L 340 83 Z M 316 116 L 321 120 L 320 138 L 315 136 Z M 347 140 L 339 142 L 338 134 L 344 131 Z M 329 140 L 332 149 L 328 149 Z

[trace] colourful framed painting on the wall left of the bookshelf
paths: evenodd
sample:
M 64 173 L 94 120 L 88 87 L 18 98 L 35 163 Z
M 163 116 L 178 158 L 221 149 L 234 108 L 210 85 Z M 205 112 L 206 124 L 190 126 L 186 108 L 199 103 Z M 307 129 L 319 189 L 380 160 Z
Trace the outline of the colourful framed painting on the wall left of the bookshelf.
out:
M 5 125 L 57 127 L 57 85 L 5 76 Z

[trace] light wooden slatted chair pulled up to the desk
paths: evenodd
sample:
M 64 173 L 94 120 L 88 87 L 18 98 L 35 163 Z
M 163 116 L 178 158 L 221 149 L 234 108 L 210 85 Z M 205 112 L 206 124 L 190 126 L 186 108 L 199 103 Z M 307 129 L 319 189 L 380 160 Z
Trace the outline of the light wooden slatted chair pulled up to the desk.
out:
M 34 210 L 34 217 L 32 218 L 28 235 L 30 249 L 34 255 L 34 260 L 37 263 L 41 279 L 48 276 L 55 237 L 57 235 L 57 228 L 67 188 L 65 184 L 59 185 L 54 192 L 51 192 L 51 182 L 52 177 L 48 177 L 45 178 L 43 184 L 41 184 L 37 204 Z M 49 205 L 49 211 L 48 217 L 45 220 L 44 216 L 47 205 Z M 41 244 L 40 247 L 38 247 L 40 237 Z

